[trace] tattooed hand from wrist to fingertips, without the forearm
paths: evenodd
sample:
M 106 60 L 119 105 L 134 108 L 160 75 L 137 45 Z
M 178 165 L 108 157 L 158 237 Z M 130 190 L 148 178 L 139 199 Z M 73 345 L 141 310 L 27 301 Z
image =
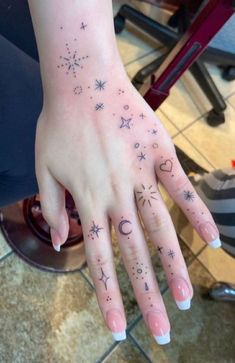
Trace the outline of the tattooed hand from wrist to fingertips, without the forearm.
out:
M 45 102 L 35 151 L 41 207 L 52 242 L 58 249 L 68 236 L 66 188 L 81 218 L 88 266 L 114 338 L 124 339 L 126 319 L 110 219 L 145 322 L 159 344 L 169 342 L 170 323 L 141 221 L 180 309 L 190 307 L 193 288 L 158 181 L 206 242 L 218 247 L 219 233 L 182 170 L 165 128 L 123 69 L 106 67 L 82 82 L 73 80 L 67 103 Z

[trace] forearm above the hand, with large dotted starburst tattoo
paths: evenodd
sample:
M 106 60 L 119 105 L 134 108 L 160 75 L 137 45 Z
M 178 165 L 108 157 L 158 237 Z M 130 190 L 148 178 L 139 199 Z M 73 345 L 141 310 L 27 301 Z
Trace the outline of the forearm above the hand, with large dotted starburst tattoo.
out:
M 116 66 L 120 72 L 111 0 L 29 0 L 29 6 L 47 100 L 73 102 L 96 79 L 110 79 Z

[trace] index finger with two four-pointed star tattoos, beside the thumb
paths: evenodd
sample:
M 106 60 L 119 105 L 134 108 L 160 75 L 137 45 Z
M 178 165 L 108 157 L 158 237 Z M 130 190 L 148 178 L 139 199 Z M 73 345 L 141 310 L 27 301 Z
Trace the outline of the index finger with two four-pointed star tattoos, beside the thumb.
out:
M 79 215 L 83 227 L 87 263 L 100 310 L 114 340 L 124 340 L 126 318 L 114 266 L 107 216 L 94 213 L 94 210 L 92 214 L 86 212 L 85 216 L 81 208 Z

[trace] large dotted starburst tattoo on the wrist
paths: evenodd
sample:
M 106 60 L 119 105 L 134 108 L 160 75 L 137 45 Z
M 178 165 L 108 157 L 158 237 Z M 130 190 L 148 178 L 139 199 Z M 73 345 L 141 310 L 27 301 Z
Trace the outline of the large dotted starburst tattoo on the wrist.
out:
M 71 51 L 69 44 L 66 43 L 66 50 L 67 54 L 66 56 L 60 56 L 60 59 L 63 63 L 60 65 L 57 65 L 57 68 L 63 68 L 66 71 L 66 74 L 73 74 L 74 78 L 77 76 L 77 70 L 78 68 L 82 69 L 83 66 L 81 65 L 85 59 L 89 58 L 88 55 L 85 57 L 79 57 L 77 55 L 77 51 Z

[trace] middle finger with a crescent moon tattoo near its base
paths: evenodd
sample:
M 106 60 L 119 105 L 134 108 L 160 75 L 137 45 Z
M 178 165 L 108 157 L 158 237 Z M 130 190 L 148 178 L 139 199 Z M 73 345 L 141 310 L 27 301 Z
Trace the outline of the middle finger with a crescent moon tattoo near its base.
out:
M 155 340 L 159 344 L 166 344 L 170 341 L 170 323 L 138 219 L 134 198 L 132 199 L 129 203 L 118 203 L 118 210 L 112 208 L 110 216 L 145 323 Z M 120 210 L 123 213 L 120 213 Z

